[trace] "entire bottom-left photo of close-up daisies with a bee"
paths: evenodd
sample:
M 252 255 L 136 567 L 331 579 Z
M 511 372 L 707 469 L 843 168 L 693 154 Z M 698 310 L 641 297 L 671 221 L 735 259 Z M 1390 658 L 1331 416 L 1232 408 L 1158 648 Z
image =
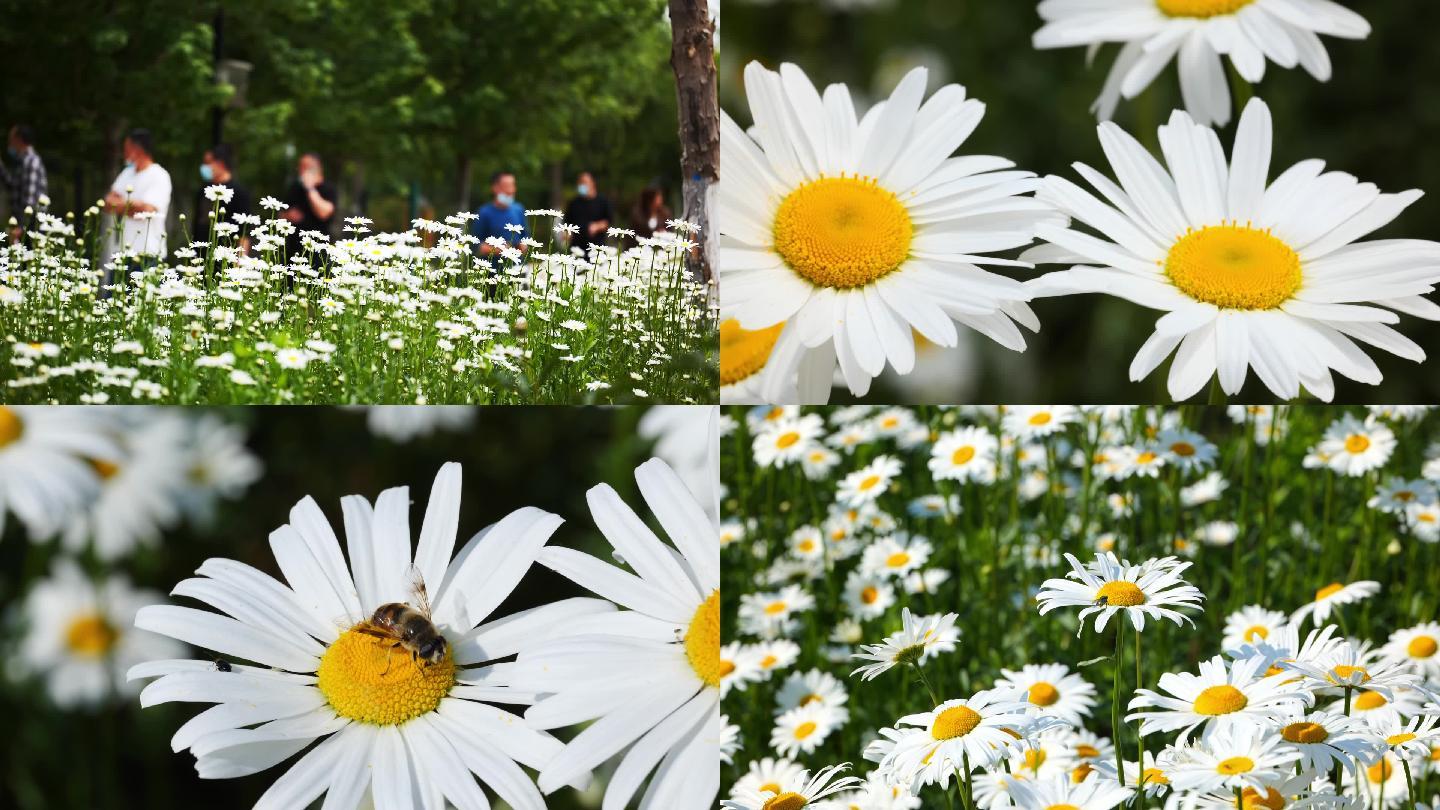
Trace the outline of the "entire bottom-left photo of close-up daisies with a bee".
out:
M 717 441 L 716 406 L 0 406 L 0 803 L 714 806 Z

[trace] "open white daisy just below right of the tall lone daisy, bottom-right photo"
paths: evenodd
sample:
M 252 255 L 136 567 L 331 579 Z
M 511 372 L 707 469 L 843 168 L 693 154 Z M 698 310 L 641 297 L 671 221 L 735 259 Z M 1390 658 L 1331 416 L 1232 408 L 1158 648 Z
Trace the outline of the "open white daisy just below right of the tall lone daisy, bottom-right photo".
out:
M 1277 724 L 1305 711 L 1310 695 L 1287 673 L 1263 677 L 1264 660 L 1243 659 L 1225 664 L 1220 656 L 1200 662 L 1200 673 L 1168 672 L 1161 676 L 1161 695 L 1138 689 L 1126 721 L 1140 721 L 1140 734 L 1181 731 L 1181 741 L 1204 725 L 1204 735 Z M 1135 711 L 1140 709 L 1140 711 Z

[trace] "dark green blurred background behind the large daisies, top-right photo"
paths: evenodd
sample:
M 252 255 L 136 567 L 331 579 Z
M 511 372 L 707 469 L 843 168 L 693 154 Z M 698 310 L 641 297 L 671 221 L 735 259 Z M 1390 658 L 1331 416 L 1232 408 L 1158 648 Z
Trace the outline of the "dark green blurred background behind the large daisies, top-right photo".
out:
M 1344 1 L 1344 0 L 1342 0 Z M 1345 3 L 1374 32 L 1361 42 L 1323 37 L 1335 75 L 1316 82 L 1300 69 L 1273 63 L 1256 95 L 1274 112 L 1272 177 L 1305 159 L 1355 174 L 1384 192 L 1421 189 L 1428 196 L 1371 238 L 1440 239 L 1440 4 L 1411 0 Z M 1090 104 L 1100 94 L 1119 46 L 1086 66 L 1084 49 L 1035 50 L 1040 27 L 1031 0 L 726 0 L 720 58 L 720 107 L 750 124 L 742 72 L 759 59 L 769 68 L 795 62 L 824 86 L 845 82 L 858 105 L 890 94 L 912 68 L 926 66 L 930 91 L 960 84 L 986 104 L 985 121 L 960 147 L 996 154 L 1020 169 L 1064 174 L 1084 161 L 1109 164 L 1096 138 Z M 1158 150 L 1155 127 L 1182 107 L 1174 63 L 1139 98 L 1122 102 L 1116 123 Z M 1234 124 L 1221 131 L 1227 151 Z M 1058 267 L 1058 265 L 1057 265 Z M 877 380 L 870 402 L 1168 402 L 1161 366 L 1128 382 L 1130 357 L 1151 333 L 1156 313 L 1103 295 L 1034 304 L 1044 329 L 1015 355 L 971 333 L 955 350 L 922 349 L 916 372 Z M 1431 356 L 1440 326 L 1404 317 L 1398 327 Z M 962 334 L 965 330 L 962 330 Z M 1436 402 L 1440 375 L 1382 352 L 1371 352 L 1384 382 L 1336 380 L 1338 402 Z M 1433 362 L 1433 360 L 1431 360 Z M 844 388 L 835 402 L 850 401 Z M 1273 396 L 1254 380 L 1241 401 Z

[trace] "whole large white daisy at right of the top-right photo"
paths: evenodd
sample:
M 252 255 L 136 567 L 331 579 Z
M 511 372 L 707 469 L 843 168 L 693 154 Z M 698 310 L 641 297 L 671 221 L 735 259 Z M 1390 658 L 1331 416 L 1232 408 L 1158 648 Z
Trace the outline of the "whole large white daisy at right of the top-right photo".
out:
M 1440 319 L 1423 297 L 1440 281 L 1440 265 L 1414 270 L 1417 257 L 1440 245 L 1352 244 L 1418 192 L 1382 195 L 1349 174 L 1320 174 L 1319 161 L 1300 163 L 1267 187 L 1270 110 L 1259 99 L 1246 107 L 1228 164 L 1215 133 L 1184 112 L 1161 127 L 1159 140 L 1169 172 L 1119 127 L 1100 124 L 1120 184 L 1079 170 L 1109 203 L 1054 176 L 1037 196 L 1103 238 L 1041 225 L 1037 235 L 1050 245 L 1022 257 L 1076 265 L 1030 281 L 1037 297 L 1104 293 L 1166 313 L 1130 363 L 1132 380 L 1174 352 L 1169 393 L 1176 401 L 1217 373 L 1224 392 L 1237 395 L 1251 368 L 1282 399 L 1305 386 L 1329 401 L 1332 369 L 1381 380 L 1355 340 L 1424 359 L 1387 324 L 1400 320 L 1390 310 Z

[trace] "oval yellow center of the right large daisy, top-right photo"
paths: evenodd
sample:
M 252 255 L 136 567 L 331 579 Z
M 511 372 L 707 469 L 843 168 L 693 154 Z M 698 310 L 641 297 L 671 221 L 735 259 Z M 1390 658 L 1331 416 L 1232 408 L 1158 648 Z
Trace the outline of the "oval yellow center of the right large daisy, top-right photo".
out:
M 1300 257 L 1267 231 L 1215 225 L 1175 242 L 1165 275 L 1181 293 L 1223 310 L 1273 310 L 1300 288 Z

